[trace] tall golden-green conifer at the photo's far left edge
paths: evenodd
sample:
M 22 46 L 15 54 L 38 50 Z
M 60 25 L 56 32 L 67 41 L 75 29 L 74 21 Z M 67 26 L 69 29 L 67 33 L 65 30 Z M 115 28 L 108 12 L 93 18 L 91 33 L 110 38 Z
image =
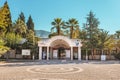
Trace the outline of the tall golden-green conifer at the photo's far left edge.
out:
M 11 31 L 12 20 L 7 1 L 4 3 L 4 6 L 0 8 L 0 27 L 6 29 L 7 32 Z

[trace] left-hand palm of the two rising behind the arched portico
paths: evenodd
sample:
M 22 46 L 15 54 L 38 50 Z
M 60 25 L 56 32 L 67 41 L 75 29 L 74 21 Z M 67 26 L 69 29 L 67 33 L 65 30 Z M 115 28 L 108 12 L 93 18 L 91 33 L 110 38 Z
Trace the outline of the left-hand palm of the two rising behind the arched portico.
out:
M 51 32 L 53 32 L 54 28 L 56 28 L 57 35 L 61 35 L 61 28 L 64 26 L 64 21 L 62 21 L 61 18 L 55 18 L 51 24 L 53 25 L 53 27 L 51 28 Z

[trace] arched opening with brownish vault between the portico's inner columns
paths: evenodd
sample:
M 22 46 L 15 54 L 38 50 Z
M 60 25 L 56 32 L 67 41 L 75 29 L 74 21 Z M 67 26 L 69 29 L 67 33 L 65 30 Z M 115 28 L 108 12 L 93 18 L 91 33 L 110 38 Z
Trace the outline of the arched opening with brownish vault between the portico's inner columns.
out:
M 63 39 L 57 39 L 50 44 L 52 59 L 70 59 L 70 46 Z

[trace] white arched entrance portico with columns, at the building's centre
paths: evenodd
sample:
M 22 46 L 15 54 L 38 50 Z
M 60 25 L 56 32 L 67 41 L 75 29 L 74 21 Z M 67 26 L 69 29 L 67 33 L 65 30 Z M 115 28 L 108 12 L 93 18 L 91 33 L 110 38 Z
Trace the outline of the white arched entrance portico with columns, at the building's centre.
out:
M 66 36 L 54 36 L 38 42 L 39 60 L 78 59 L 81 60 L 81 41 Z

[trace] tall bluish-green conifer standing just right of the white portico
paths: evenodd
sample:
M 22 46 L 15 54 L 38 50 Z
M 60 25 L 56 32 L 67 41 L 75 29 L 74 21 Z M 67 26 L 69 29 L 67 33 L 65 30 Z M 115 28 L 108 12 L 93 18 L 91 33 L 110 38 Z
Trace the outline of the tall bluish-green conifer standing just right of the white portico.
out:
M 84 24 L 84 30 L 87 32 L 87 45 L 89 49 L 91 49 L 91 54 L 93 58 L 94 50 L 98 46 L 98 32 L 99 32 L 99 24 L 100 22 L 98 21 L 97 18 L 95 18 L 95 15 L 93 14 L 92 11 L 89 12 L 87 15 L 87 21 Z

